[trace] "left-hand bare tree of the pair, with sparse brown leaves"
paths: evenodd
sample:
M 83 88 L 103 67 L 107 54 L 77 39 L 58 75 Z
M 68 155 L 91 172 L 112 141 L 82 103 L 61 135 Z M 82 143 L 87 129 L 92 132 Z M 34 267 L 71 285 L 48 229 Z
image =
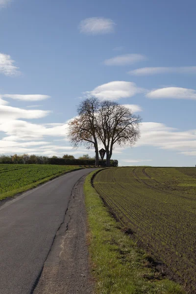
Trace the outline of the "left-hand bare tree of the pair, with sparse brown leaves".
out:
M 87 148 L 95 148 L 98 165 L 98 132 L 97 113 L 99 109 L 98 98 L 92 97 L 82 101 L 78 108 L 78 116 L 69 123 L 69 138 L 73 147 L 85 144 Z

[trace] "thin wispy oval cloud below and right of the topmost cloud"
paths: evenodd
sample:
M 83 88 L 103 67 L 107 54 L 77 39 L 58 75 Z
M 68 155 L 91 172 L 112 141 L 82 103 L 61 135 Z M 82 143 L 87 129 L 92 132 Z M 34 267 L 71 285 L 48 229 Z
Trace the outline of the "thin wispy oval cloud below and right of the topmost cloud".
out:
M 142 54 L 123 54 L 104 61 L 105 65 L 130 65 L 139 61 L 146 60 L 147 57 Z

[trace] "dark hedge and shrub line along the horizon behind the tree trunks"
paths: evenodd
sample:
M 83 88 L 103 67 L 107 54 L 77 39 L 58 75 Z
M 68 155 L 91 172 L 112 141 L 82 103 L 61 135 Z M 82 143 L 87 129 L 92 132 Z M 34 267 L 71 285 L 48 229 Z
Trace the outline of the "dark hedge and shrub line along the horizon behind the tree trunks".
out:
M 0 164 L 56 164 L 56 165 L 87 165 L 94 166 L 95 158 L 90 157 L 88 154 L 84 154 L 78 158 L 73 155 L 65 154 L 62 158 L 57 156 L 39 156 L 39 155 L 28 155 L 28 154 L 14 154 L 14 155 L 0 155 Z M 105 165 L 105 160 L 103 161 Z M 101 165 L 99 159 L 98 165 Z M 110 165 L 118 167 L 118 160 L 111 160 Z

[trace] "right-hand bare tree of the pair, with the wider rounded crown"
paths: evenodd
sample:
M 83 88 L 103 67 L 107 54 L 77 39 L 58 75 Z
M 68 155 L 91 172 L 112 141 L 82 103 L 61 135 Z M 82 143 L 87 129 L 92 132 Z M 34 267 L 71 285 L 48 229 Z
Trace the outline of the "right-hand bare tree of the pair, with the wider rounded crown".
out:
M 142 119 L 131 109 L 112 101 L 102 101 L 96 120 L 98 138 L 106 150 L 106 166 L 110 166 L 114 145 L 133 146 L 140 137 L 139 124 Z

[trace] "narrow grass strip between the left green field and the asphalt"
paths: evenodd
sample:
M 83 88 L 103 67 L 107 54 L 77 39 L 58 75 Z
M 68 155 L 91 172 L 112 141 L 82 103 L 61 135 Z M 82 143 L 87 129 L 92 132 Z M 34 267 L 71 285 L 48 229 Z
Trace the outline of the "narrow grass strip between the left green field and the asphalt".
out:
M 57 177 L 59 177 L 59 176 L 61 176 L 63 174 L 66 174 L 68 172 L 74 172 L 74 171 L 83 170 L 84 168 L 86 168 L 86 167 L 75 168 L 75 169 L 70 170 L 70 171 L 67 170 L 67 171 L 58 172 L 58 173 L 56 173 L 54 175 L 48 176 L 48 177 L 46 177 L 44 179 L 41 179 L 41 180 L 39 180 L 37 182 L 31 183 L 31 184 L 26 185 L 24 187 L 20 187 L 20 188 L 11 190 L 11 191 L 7 191 L 5 193 L 0 194 L 0 200 L 4 200 L 5 198 L 16 196 L 17 194 L 21 194 L 21 193 L 26 192 L 26 191 L 28 191 L 30 189 L 33 189 L 33 188 L 35 188 L 35 187 L 37 187 L 37 186 L 39 186 L 41 184 L 44 184 L 44 183 L 46 183 L 46 182 L 48 182 L 50 180 L 55 179 L 55 178 L 57 178 Z

